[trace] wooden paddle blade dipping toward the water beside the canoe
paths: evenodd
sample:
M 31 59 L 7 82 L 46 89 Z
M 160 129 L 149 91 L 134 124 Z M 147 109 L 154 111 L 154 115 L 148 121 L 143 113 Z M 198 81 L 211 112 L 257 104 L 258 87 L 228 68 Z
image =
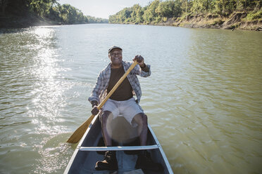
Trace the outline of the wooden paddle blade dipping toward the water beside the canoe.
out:
M 94 119 L 94 115 L 89 116 L 89 119 L 85 121 L 85 123 L 82 123 L 82 125 L 75 130 L 73 135 L 70 136 L 70 138 L 67 140 L 69 143 L 77 143 L 79 140 L 81 140 L 82 136 L 85 134 L 85 131 L 87 131 L 87 128 L 91 121 Z

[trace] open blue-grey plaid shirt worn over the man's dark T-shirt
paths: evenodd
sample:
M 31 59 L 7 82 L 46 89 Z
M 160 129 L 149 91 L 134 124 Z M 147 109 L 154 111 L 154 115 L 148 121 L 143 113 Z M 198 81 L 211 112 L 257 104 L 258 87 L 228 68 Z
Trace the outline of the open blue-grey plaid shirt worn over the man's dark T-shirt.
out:
M 132 62 L 125 62 L 122 61 L 122 65 L 125 69 L 125 72 L 127 69 L 132 65 Z M 137 75 L 139 76 L 150 76 L 151 71 L 150 71 L 150 65 L 146 65 L 149 68 L 149 72 L 144 72 L 142 69 L 139 67 L 139 65 L 136 65 L 134 69 L 130 72 L 130 74 L 127 75 L 127 79 L 130 82 L 133 93 L 137 95 L 137 102 L 139 103 L 140 98 L 142 96 L 142 91 L 140 87 L 140 83 L 137 79 Z M 96 84 L 94 85 L 94 89 L 88 98 L 89 102 L 96 101 L 98 103 L 102 102 L 104 98 L 106 98 L 106 88 L 108 87 L 109 79 L 111 75 L 111 63 L 103 69 L 99 76 L 97 77 Z

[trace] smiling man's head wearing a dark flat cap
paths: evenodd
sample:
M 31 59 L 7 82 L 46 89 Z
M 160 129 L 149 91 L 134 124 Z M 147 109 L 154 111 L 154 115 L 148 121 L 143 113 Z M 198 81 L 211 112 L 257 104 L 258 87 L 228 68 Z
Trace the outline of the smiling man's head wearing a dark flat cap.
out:
M 108 49 L 108 58 L 110 58 L 112 68 L 118 68 L 122 66 L 122 48 L 119 46 L 112 46 Z

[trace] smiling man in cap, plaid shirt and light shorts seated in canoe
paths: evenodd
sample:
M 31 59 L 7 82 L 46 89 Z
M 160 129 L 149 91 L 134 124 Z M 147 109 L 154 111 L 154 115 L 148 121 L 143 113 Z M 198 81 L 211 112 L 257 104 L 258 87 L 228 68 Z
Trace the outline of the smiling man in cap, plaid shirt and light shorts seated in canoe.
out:
M 122 48 L 118 46 L 113 46 L 108 50 L 108 58 L 110 58 L 111 62 L 100 72 L 92 94 L 88 98 L 92 104 L 93 115 L 99 113 L 99 109 L 97 108 L 99 103 L 132 64 L 132 62 L 123 61 Z M 140 145 L 146 145 L 147 117 L 138 104 L 142 91 L 137 75 L 150 76 L 151 71 L 150 65 L 144 63 L 144 58 L 141 55 L 136 55 L 133 60 L 137 60 L 138 65 L 132 69 L 127 78 L 125 78 L 113 95 L 106 101 L 99 115 L 104 143 L 108 147 L 112 146 L 111 136 L 107 130 L 108 117 L 113 116 L 113 118 L 116 118 L 119 114 L 124 116 L 132 126 L 137 126 Z M 133 93 L 137 95 L 137 100 L 133 98 Z M 152 161 L 148 157 L 148 152 L 143 151 L 139 154 L 136 168 L 142 168 L 143 165 L 148 166 L 148 164 L 152 164 Z M 95 168 L 96 170 L 118 170 L 116 152 L 106 152 L 104 161 L 97 161 Z

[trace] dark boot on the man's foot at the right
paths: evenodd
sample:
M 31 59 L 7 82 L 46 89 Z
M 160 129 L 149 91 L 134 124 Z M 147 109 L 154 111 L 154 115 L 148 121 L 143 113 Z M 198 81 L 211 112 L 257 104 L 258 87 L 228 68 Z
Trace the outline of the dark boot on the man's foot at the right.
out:
M 141 168 L 142 170 L 152 170 L 152 171 L 162 171 L 163 166 L 161 163 L 155 163 L 151 159 L 151 155 L 149 152 L 142 151 L 137 158 L 137 163 L 135 164 L 135 168 Z

